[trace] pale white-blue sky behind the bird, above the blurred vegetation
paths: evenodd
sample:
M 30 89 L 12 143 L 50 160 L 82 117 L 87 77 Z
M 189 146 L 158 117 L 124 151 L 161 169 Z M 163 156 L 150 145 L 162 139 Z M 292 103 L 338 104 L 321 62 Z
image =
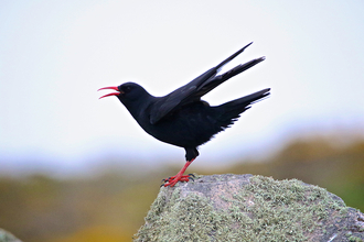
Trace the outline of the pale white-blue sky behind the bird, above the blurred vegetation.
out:
M 266 87 L 271 98 L 201 146 L 195 163 L 266 154 L 300 132 L 363 134 L 363 9 L 360 0 L 1 1 L 0 169 L 77 169 L 104 155 L 182 165 L 183 148 L 146 134 L 96 90 L 136 81 L 167 95 L 251 41 L 229 67 L 267 59 L 204 99 Z

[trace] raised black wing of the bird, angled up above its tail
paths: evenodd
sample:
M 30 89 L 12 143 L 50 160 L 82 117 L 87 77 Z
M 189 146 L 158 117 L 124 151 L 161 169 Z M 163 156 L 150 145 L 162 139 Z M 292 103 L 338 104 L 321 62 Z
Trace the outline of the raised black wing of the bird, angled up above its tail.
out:
M 257 59 L 253 59 L 246 64 L 238 65 L 234 67 L 233 69 L 222 74 L 217 75 L 217 73 L 221 70 L 221 68 L 229 63 L 233 58 L 235 58 L 237 55 L 239 55 L 246 47 L 248 47 L 251 43 L 247 44 L 236 53 L 234 53 L 232 56 L 226 58 L 224 62 L 218 64 L 217 66 L 208 69 L 201 76 L 196 77 L 189 84 L 180 87 L 179 89 L 172 91 L 171 94 L 160 98 L 156 101 L 153 105 L 153 108 L 151 110 L 150 116 L 150 122 L 151 124 L 157 123 L 160 121 L 164 116 L 167 116 L 169 112 L 178 109 L 181 106 L 199 101 L 202 96 L 224 82 L 225 80 L 232 78 L 235 75 L 238 75 L 239 73 L 255 66 L 256 64 L 263 62 L 265 57 L 260 57 Z

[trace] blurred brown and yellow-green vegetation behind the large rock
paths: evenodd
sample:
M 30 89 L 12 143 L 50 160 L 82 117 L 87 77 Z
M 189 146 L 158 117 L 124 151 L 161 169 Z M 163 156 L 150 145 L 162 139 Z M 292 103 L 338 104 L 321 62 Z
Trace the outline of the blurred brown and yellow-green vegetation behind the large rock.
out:
M 326 188 L 364 210 L 364 140 L 297 139 L 264 161 L 237 161 L 200 174 L 259 174 L 298 178 Z M 338 144 L 340 143 L 340 144 Z M 93 177 L 0 177 L 0 228 L 26 242 L 122 242 L 143 224 L 161 179 L 180 167 L 151 174 L 110 169 Z

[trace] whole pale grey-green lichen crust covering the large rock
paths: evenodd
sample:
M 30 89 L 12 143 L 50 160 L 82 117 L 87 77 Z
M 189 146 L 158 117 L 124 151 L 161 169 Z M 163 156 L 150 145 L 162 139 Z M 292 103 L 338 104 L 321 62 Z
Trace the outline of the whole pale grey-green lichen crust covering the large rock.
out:
M 253 176 L 238 193 L 221 196 L 227 209 L 203 194 L 171 193 L 159 194 L 135 241 L 307 241 L 322 221 L 346 211 L 325 189 L 296 179 Z

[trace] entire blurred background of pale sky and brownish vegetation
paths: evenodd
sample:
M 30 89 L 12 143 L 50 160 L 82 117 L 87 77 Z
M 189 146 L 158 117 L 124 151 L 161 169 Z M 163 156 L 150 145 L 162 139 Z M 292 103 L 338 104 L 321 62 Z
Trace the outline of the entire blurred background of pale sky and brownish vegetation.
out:
M 184 150 L 117 98 L 163 96 L 254 42 L 204 97 L 271 97 L 201 146 L 189 173 L 298 178 L 364 209 L 363 1 L 0 2 L 0 228 L 29 242 L 130 241 Z M 224 72 L 224 69 L 223 69 Z

